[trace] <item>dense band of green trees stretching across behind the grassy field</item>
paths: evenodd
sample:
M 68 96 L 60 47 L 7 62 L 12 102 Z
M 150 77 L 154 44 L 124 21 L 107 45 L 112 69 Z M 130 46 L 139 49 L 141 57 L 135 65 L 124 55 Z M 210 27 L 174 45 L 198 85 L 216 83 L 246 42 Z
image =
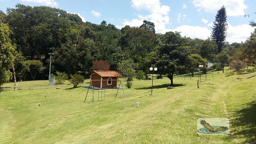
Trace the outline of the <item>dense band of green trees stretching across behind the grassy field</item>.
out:
M 135 73 L 142 71 L 147 78 L 149 67 L 156 64 L 156 73 L 166 75 L 171 84 L 175 72 L 193 72 L 207 60 L 223 72 L 232 60 L 250 64 L 255 60 L 256 31 L 245 42 L 221 42 L 218 48 L 210 36 L 202 40 L 182 37 L 180 32 L 155 33 L 154 23 L 147 20 L 140 27 L 120 30 L 105 20 L 93 24 L 57 8 L 22 4 L 7 8 L 6 14 L 0 11 L 0 23 L 0 68 L 1 73 L 8 73 L 0 78 L 1 84 L 13 77 L 9 70 L 16 72 L 14 78 L 48 79 L 49 53 L 53 53 L 52 74 L 84 75 L 95 68 L 95 61 L 104 60 L 109 70 L 122 72 L 120 68 L 129 64 L 127 68 Z

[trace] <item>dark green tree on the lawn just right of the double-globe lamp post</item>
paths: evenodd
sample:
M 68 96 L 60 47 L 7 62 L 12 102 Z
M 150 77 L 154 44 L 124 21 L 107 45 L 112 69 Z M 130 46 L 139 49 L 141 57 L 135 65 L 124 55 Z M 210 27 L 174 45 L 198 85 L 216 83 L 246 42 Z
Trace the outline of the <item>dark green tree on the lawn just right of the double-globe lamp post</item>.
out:
M 173 74 L 176 71 L 184 71 L 188 60 L 188 40 L 181 37 L 179 32 L 166 32 L 163 45 L 160 47 L 160 58 L 158 66 L 162 66 L 164 73 L 171 80 L 173 85 Z

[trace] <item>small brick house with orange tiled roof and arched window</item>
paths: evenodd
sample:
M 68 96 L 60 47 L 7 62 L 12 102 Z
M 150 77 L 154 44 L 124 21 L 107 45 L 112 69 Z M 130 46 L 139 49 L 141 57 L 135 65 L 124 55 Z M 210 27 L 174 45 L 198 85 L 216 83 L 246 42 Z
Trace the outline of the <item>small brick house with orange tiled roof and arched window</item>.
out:
M 109 89 L 118 87 L 118 78 L 122 77 L 116 71 L 93 70 L 86 75 L 91 75 L 93 88 Z

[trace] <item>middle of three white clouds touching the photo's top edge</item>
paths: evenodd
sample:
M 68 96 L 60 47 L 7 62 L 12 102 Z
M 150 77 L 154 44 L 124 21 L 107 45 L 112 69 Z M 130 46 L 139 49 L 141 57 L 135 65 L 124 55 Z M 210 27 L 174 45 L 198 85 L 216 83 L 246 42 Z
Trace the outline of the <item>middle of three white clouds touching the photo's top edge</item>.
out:
M 161 15 L 167 15 L 170 11 L 170 7 L 162 5 L 159 0 L 132 0 L 132 7 L 136 10 L 148 10 L 150 13 L 159 13 Z

